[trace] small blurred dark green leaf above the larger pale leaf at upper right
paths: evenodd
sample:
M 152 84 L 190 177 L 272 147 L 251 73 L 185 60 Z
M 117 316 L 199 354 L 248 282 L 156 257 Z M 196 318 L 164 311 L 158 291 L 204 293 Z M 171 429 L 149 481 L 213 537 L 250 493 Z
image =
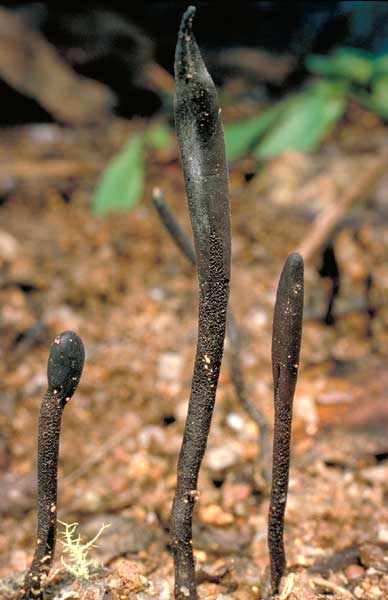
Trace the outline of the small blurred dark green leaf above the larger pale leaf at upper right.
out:
M 331 56 L 312 54 L 307 57 L 306 66 L 317 75 L 348 79 L 358 84 L 368 83 L 375 68 L 373 57 L 357 48 L 343 48 Z

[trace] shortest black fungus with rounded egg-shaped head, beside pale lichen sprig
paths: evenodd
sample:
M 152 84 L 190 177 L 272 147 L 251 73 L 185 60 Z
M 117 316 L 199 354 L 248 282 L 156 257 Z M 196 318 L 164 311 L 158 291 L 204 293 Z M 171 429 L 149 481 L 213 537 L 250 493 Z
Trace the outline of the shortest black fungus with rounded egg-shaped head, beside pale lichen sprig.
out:
M 57 533 L 57 471 L 63 409 L 77 389 L 84 366 L 81 338 L 73 331 L 58 335 L 47 364 L 48 388 L 43 397 L 38 434 L 38 531 L 31 567 L 20 598 L 42 598 L 42 584 L 54 560 Z

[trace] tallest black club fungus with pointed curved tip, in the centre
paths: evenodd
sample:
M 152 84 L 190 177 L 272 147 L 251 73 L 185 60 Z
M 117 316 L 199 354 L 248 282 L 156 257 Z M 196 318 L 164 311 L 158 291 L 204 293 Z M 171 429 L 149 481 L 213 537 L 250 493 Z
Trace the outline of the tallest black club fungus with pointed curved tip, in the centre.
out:
M 217 92 L 192 33 L 195 8 L 182 18 L 175 54 L 175 123 L 199 280 L 197 351 L 177 487 L 171 513 L 175 598 L 198 598 L 192 514 L 221 367 L 230 280 L 230 206 Z

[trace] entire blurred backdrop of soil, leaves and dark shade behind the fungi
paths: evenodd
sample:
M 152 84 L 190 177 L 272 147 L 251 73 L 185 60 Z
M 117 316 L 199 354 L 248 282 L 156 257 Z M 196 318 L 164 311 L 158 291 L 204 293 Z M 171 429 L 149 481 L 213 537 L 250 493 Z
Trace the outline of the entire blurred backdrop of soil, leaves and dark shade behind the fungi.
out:
M 108 570 L 92 582 L 63 576 L 58 544 L 52 593 L 172 597 L 167 531 L 197 284 L 151 196 L 158 188 L 191 235 L 173 117 L 186 6 L 0 4 L 5 598 L 33 552 L 38 411 L 49 345 L 66 329 L 82 336 L 87 362 L 64 412 L 59 518 L 80 523 L 86 540 L 103 522 L 111 527 L 92 556 Z M 196 6 L 194 33 L 225 125 L 231 305 L 251 406 L 236 393 L 227 340 L 195 513 L 201 597 L 253 600 L 263 584 L 259 424 L 272 430 L 273 305 L 284 260 L 297 250 L 306 294 L 287 508 L 290 598 L 383 598 L 388 2 Z

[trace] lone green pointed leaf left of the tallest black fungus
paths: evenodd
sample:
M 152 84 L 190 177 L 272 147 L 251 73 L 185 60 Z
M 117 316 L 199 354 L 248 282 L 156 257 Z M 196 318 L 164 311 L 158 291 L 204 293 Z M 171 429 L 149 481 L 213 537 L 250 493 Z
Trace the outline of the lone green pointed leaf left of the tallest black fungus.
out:
M 130 210 L 139 200 L 144 187 L 143 146 L 144 136 L 134 135 L 112 158 L 94 192 L 96 215 Z

